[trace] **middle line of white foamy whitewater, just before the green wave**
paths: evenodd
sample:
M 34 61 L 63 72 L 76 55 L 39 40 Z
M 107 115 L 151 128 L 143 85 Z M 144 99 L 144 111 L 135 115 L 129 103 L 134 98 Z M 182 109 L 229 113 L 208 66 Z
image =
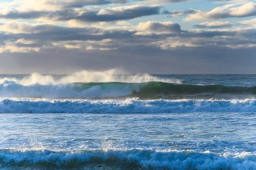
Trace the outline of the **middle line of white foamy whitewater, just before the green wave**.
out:
M 29 100 L 3 99 L 0 113 L 173 113 L 256 112 L 256 99 L 244 100 Z

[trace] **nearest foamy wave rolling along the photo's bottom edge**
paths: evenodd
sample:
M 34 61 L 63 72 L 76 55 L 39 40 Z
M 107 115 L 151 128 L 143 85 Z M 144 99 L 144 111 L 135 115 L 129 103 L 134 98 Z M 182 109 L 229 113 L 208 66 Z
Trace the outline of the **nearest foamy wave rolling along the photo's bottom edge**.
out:
M 217 155 L 192 150 L 0 150 L 0 165 L 34 165 L 46 167 L 76 167 L 79 164 L 108 164 L 129 169 L 194 169 L 194 170 L 253 170 L 256 153 Z M 136 166 L 134 166 L 136 165 Z M 95 167 L 94 167 L 95 168 Z

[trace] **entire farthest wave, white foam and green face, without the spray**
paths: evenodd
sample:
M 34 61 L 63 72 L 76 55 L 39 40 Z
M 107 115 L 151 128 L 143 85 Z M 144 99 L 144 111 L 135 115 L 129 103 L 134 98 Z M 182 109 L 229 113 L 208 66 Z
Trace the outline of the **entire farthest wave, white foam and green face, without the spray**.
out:
M 22 85 L 5 80 L 0 84 L 0 97 L 46 98 L 111 98 L 140 99 L 229 99 L 256 95 L 256 86 L 184 85 L 165 82 L 76 82 L 65 84 Z

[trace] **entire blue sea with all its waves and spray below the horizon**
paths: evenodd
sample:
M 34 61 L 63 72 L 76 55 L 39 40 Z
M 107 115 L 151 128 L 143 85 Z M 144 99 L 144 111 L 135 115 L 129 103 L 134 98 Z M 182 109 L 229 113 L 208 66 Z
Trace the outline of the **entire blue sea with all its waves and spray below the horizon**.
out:
M 0 170 L 256 170 L 256 75 L 0 75 Z

